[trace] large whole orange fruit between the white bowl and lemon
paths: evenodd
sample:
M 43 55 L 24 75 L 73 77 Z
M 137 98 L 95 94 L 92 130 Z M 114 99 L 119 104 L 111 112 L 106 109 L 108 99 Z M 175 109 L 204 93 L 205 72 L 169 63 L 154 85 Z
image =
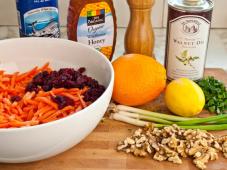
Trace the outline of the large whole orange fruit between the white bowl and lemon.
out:
M 142 105 L 157 98 L 165 89 L 166 70 L 152 57 L 129 54 L 112 64 L 115 71 L 113 100 L 120 104 Z

